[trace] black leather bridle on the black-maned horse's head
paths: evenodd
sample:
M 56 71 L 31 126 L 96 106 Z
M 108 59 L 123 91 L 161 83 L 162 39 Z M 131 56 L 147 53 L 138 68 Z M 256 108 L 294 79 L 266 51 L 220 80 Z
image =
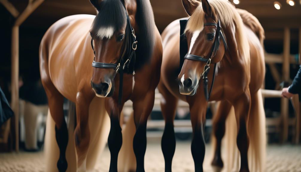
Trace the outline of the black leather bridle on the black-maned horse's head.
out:
M 94 51 L 94 60 L 92 62 L 92 66 L 96 68 L 108 68 L 108 69 L 115 69 L 115 73 L 113 76 L 113 80 L 116 76 L 116 74 L 119 72 L 120 74 L 120 79 L 119 79 L 119 95 L 118 95 L 118 104 L 121 104 L 122 100 L 122 89 L 123 89 L 123 72 L 124 69 L 127 68 L 129 70 L 129 65 L 131 63 L 131 60 L 133 59 L 134 63 L 132 66 L 133 68 L 135 67 L 135 61 L 136 61 L 136 54 L 135 51 L 137 49 L 137 42 L 136 41 L 136 35 L 135 35 L 135 30 L 133 29 L 131 25 L 131 20 L 129 18 L 129 15 L 126 12 L 126 33 L 125 33 L 125 44 L 123 45 L 123 52 L 122 55 L 120 56 L 119 60 L 117 63 L 101 63 L 101 62 L 96 62 L 95 61 L 95 49 L 93 45 L 93 38 L 91 39 L 91 46 Z M 124 59 L 124 57 L 127 57 Z M 135 75 L 135 71 L 133 69 L 133 75 Z

